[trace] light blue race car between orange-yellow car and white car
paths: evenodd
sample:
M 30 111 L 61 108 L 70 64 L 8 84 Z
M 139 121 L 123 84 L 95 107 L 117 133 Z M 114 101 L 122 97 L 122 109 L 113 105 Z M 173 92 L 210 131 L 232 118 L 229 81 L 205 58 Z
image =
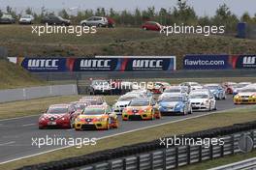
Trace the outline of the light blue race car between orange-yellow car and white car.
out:
M 161 115 L 191 114 L 192 106 L 185 94 L 167 94 L 158 100 Z

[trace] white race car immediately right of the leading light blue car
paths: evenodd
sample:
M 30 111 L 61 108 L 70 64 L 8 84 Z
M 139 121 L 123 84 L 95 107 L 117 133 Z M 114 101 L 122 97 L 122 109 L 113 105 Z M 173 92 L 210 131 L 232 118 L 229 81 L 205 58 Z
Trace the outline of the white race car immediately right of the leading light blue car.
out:
M 202 90 L 202 92 L 191 92 L 189 94 L 189 99 L 193 111 L 211 111 L 217 109 L 216 100 L 214 96 L 206 90 Z

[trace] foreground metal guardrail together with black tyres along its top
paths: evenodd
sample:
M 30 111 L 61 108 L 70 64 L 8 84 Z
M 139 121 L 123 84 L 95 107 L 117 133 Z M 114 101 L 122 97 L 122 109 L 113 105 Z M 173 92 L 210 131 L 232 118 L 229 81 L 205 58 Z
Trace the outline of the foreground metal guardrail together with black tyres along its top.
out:
M 212 128 L 192 132 L 187 138 L 223 138 L 224 145 L 171 146 L 168 149 L 160 145 L 160 140 L 119 147 L 84 156 L 66 158 L 59 161 L 25 166 L 19 170 L 147 170 L 175 169 L 204 160 L 233 155 L 240 152 L 241 135 L 249 135 L 256 148 L 256 121 L 225 128 Z M 181 136 L 179 136 L 181 138 Z

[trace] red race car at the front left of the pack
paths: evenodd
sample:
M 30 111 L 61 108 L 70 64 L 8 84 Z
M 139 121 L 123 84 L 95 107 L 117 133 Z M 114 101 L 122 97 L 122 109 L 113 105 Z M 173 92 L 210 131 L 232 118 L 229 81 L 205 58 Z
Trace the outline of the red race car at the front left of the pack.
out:
M 39 128 L 72 128 L 76 108 L 72 104 L 53 104 L 39 118 Z

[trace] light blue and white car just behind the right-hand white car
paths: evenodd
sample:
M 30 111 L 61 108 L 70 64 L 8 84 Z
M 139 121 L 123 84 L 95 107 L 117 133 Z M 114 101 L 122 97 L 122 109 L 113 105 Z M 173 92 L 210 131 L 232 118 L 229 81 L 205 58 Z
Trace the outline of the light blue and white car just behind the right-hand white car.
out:
M 227 98 L 225 90 L 219 84 L 205 84 L 204 88 L 207 88 L 213 94 L 215 99 Z

